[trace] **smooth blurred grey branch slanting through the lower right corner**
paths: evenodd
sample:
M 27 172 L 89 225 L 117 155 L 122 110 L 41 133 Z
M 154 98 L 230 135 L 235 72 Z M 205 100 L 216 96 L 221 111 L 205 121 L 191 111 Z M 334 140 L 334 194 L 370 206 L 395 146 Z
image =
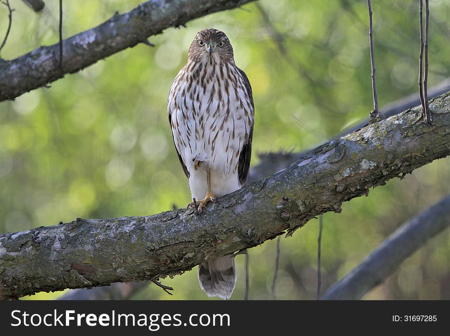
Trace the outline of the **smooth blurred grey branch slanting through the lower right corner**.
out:
M 321 300 L 358 300 L 394 273 L 426 241 L 450 226 L 450 195 L 404 223 Z

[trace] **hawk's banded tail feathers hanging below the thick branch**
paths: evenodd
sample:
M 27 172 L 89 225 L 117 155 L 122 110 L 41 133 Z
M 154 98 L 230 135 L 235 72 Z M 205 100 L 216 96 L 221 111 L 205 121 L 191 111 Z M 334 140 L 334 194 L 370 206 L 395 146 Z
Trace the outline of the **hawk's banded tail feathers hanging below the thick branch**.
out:
M 227 255 L 201 263 L 198 266 L 198 282 L 207 296 L 229 299 L 236 286 L 234 256 Z

